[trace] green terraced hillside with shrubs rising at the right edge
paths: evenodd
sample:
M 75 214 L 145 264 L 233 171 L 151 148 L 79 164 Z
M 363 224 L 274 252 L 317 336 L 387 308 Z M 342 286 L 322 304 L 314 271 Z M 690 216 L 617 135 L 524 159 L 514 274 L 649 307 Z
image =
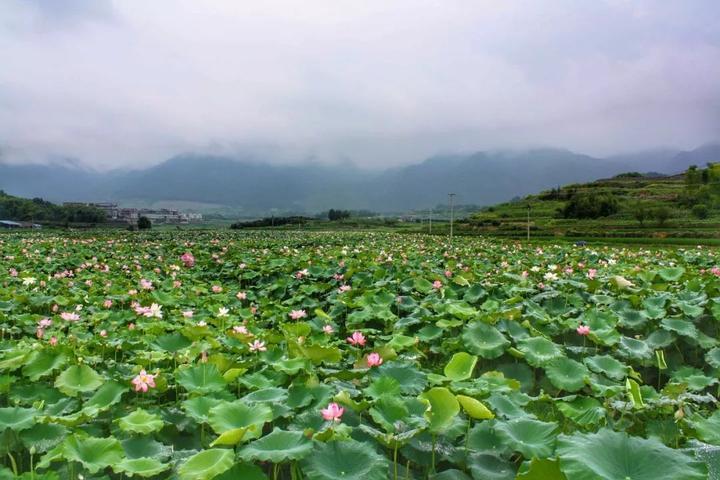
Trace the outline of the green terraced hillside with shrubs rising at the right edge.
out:
M 528 210 L 529 209 L 529 210 Z M 464 230 L 493 236 L 720 238 L 720 164 L 626 173 L 485 207 Z

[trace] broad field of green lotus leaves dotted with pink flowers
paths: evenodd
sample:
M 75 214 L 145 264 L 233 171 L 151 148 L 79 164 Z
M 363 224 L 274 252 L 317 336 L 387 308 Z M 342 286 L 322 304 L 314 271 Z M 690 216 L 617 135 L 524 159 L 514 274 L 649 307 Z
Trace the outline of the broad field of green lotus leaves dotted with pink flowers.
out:
M 0 236 L 0 479 L 718 478 L 712 249 Z

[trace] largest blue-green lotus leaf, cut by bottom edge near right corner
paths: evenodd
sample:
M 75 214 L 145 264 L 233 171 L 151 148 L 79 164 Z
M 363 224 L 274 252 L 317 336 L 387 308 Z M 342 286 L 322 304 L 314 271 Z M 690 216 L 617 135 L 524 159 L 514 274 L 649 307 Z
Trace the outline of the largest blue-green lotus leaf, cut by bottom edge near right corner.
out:
M 701 480 L 704 465 L 656 439 L 631 437 L 602 429 L 597 433 L 560 435 L 560 469 L 572 480 Z

